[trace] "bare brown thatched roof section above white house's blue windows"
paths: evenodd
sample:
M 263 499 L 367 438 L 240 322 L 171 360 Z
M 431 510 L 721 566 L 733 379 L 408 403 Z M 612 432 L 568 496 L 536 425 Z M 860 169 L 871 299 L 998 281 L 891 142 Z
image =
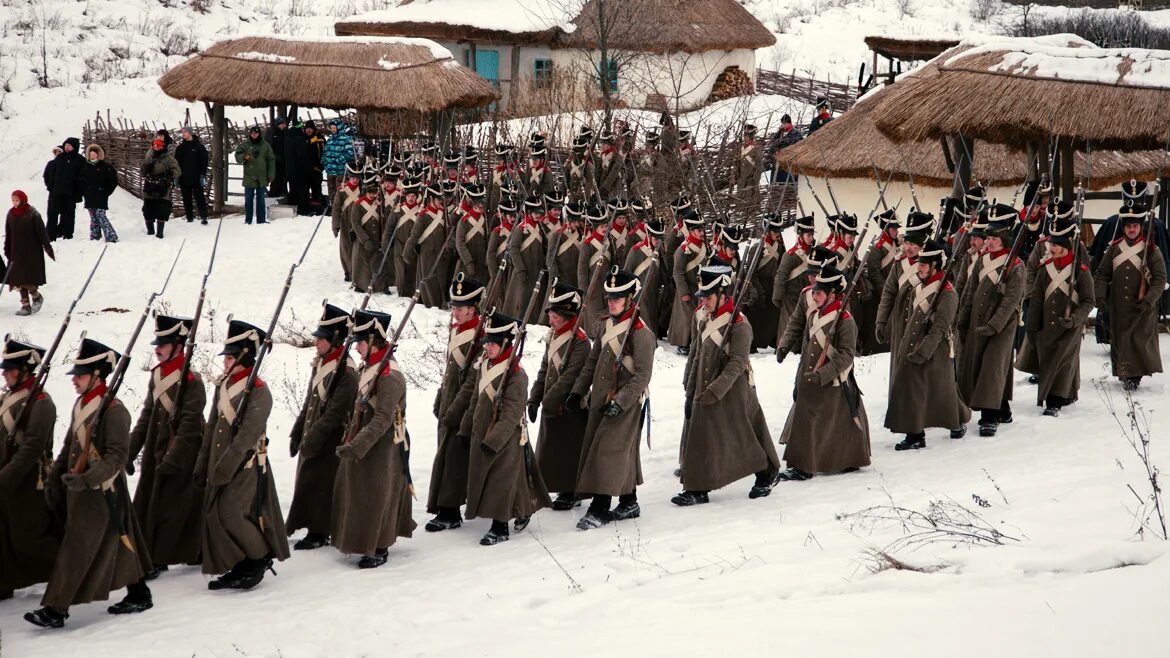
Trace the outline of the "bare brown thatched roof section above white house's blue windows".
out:
M 736 0 L 611 0 L 608 47 L 642 53 L 768 48 L 776 36 Z M 596 48 L 600 5 L 589 0 L 556 47 Z

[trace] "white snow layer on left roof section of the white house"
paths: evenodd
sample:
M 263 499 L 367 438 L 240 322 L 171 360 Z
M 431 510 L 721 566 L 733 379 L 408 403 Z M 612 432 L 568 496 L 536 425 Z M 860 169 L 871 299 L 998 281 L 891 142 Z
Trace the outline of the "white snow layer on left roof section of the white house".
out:
M 572 32 L 572 2 L 557 0 L 413 0 L 345 19 L 346 23 L 440 23 L 515 34 Z M 579 8 L 579 7 L 577 7 Z M 573 14 L 573 15 L 571 15 Z

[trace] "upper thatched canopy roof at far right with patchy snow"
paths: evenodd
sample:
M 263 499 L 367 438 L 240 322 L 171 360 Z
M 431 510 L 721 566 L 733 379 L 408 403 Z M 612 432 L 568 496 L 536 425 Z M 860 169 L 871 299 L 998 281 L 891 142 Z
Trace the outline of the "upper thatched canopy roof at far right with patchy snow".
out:
M 963 133 L 1014 146 L 1162 149 L 1170 138 L 1170 52 L 987 43 L 941 56 L 882 103 L 894 139 Z

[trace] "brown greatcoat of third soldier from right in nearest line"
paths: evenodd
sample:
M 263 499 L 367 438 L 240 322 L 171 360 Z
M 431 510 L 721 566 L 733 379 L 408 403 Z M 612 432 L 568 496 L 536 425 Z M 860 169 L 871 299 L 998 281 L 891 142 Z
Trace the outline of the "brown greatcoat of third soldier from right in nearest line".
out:
M 958 331 L 963 351 L 958 355 L 958 391 L 971 409 L 999 409 L 1012 399 L 1012 345 L 1024 297 L 1024 263 L 1013 263 L 1004 277 L 1003 290 L 996 286 L 1007 255 L 980 256 L 959 300 Z M 990 327 L 990 336 L 977 330 Z

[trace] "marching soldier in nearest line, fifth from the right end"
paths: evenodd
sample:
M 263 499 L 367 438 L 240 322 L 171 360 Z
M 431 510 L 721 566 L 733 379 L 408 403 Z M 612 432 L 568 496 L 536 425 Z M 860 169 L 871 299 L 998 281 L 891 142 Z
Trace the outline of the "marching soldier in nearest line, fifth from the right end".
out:
M 848 473 L 869 466 L 869 421 L 853 377 L 858 327 L 842 306 L 845 288 L 845 274 L 833 266 L 823 267 L 811 292 L 811 317 L 807 323 L 790 322 L 776 348 L 777 361 L 784 361 L 797 341 L 805 343 L 797 368 L 796 400 L 780 438 L 789 465 L 780 480 L 807 480 L 817 473 Z

